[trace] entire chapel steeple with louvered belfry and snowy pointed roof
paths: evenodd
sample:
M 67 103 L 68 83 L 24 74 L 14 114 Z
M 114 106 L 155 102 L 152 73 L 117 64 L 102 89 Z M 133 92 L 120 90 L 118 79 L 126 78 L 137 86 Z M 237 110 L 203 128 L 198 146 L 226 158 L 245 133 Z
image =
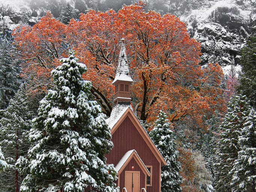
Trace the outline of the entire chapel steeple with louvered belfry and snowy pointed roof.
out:
M 115 95 L 109 123 L 114 121 L 116 117 L 127 107 L 131 107 L 131 88 L 133 79 L 130 76 L 129 65 L 125 52 L 124 39 L 121 39 L 121 50 L 119 54 L 116 77 L 112 84 L 115 86 Z M 131 107 L 132 109 L 132 107 Z

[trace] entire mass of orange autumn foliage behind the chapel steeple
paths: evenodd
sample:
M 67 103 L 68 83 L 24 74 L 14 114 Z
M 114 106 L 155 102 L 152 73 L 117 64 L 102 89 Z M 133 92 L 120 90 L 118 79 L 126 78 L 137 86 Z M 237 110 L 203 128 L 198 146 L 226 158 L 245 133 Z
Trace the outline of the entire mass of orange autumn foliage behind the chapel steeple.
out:
M 92 81 L 92 92 L 107 115 L 122 37 L 134 80 L 134 112 L 139 119 L 151 124 L 163 110 L 171 122 L 198 128 L 204 127 L 215 110 L 224 110 L 219 97 L 220 66 L 202 68 L 200 43 L 189 37 L 185 24 L 170 14 L 145 12 L 142 3 L 124 6 L 118 12 L 90 10 L 69 25 L 47 13 L 32 28 L 16 29 L 13 36 L 26 60 L 23 73 L 37 87 L 51 84 L 49 72 L 56 65 L 54 61 L 64 56 L 66 49 L 74 49 L 79 61 L 87 65 L 83 77 Z

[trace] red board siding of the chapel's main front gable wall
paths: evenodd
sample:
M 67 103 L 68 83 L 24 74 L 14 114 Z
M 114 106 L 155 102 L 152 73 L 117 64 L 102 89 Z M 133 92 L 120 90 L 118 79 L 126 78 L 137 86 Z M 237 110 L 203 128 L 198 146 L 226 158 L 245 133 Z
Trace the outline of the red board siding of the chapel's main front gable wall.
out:
M 105 155 L 107 163 L 116 166 L 127 151 L 135 149 L 145 165 L 153 166 L 152 186 L 146 188 L 147 192 L 160 192 L 160 164 L 129 117 L 126 117 L 116 129 L 112 135 L 112 141 L 114 148 Z

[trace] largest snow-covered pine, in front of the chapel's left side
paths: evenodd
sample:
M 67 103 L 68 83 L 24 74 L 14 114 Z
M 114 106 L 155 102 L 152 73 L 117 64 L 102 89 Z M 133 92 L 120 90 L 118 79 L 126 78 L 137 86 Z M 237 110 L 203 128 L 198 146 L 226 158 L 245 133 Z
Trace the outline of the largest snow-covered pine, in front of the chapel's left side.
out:
M 53 74 L 53 89 L 40 101 L 30 138 L 35 144 L 17 165 L 27 173 L 23 192 L 116 192 L 114 166 L 105 153 L 113 143 L 92 83 L 83 80 L 86 65 L 71 52 Z

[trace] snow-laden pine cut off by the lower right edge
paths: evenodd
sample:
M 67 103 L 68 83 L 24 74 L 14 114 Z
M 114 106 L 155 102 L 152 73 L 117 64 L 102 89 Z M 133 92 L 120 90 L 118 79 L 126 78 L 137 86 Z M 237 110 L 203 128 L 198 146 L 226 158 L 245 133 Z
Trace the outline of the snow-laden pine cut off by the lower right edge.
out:
M 247 111 L 249 115 L 244 117 L 238 139 L 238 158 L 230 171 L 232 192 L 255 192 L 256 189 L 256 112 L 250 106 Z

